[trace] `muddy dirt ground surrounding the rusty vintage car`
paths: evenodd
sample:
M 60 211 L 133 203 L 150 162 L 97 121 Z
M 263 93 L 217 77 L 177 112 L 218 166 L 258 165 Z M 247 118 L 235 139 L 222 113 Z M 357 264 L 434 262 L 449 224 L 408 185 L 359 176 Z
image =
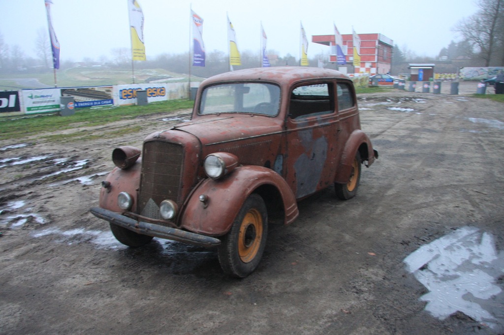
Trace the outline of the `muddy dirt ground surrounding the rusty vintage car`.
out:
M 242 280 L 223 275 L 213 250 L 160 239 L 125 247 L 89 213 L 112 150 L 140 148 L 188 111 L 54 132 L 98 140 L 27 129 L 1 141 L 0 333 L 504 333 L 504 106 L 391 90 L 361 95 L 359 108 L 380 158 L 363 168 L 357 196 L 327 189 L 299 203 L 293 224 L 271 223 L 259 269 Z M 132 125 L 142 129 L 111 136 Z M 491 237 L 479 262 L 497 264 L 493 323 L 435 317 L 421 300 L 429 287 L 404 261 L 463 227 Z

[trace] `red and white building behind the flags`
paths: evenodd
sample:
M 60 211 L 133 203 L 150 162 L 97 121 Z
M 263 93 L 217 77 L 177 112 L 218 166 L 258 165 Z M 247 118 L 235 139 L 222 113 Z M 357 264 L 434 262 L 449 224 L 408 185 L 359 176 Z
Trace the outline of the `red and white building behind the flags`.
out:
M 355 74 L 387 74 L 392 66 L 392 49 L 394 42 L 383 34 L 358 34 L 360 38 L 360 66 L 353 68 L 353 41 L 352 34 L 341 35 L 343 37 L 343 53 L 347 64 L 340 65 L 340 71 Z M 331 47 L 329 62 L 336 62 L 336 47 L 334 35 L 313 35 L 313 43 L 328 45 Z M 350 69 L 349 69 L 350 68 Z

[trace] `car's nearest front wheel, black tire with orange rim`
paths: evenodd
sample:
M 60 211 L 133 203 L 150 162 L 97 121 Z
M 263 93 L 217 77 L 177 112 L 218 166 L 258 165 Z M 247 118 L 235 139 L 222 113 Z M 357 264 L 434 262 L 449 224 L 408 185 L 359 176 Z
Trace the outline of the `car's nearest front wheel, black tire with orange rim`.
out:
M 224 235 L 219 262 L 229 276 L 244 278 L 256 270 L 268 236 L 268 212 L 259 194 L 250 194 Z

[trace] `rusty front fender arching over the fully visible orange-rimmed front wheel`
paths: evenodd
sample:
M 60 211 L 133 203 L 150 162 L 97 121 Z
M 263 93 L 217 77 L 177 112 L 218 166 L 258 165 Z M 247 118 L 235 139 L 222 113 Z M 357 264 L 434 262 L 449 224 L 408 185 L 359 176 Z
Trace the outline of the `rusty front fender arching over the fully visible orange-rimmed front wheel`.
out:
M 285 180 L 262 166 L 241 166 L 223 179 L 205 179 L 184 206 L 180 227 L 209 236 L 226 234 L 245 199 L 263 185 L 280 194 L 284 223 L 294 221 L 299 215 L 296 197 Z

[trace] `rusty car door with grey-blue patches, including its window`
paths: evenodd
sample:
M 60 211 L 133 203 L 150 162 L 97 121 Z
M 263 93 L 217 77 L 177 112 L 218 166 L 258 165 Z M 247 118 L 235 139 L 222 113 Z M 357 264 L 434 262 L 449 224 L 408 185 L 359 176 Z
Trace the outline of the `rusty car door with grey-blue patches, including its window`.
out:
M 290 92 L 286 119 L 285 179 L 296 198 L 334 181 L 338 134 L 333 80 L 302 83 Z

